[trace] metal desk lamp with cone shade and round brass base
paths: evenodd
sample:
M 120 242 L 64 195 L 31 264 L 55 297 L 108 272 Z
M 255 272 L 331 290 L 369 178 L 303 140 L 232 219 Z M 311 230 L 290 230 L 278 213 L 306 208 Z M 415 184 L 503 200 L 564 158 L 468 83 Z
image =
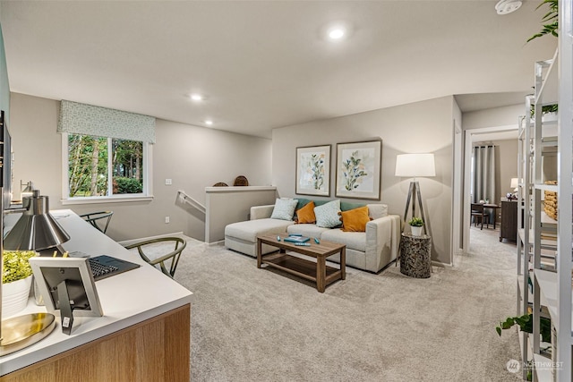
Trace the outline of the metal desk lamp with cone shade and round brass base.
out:
M 4 214 L 21 212 L 22 215 L 4 241 L 0 241 L 0 253 L 4 253 L 3 247 L 7 250 L 47 250 L 57 246 L 61 250 L 59 245 L 70 240 L 70 236 L 50 215 L 47 196 L 40 196 L 39 191 L 34 190 L 32 196 L 22 199 L 22 206 L 6 210 L 1 206 L 3 213 L 0 214 L 0 226 L 4 225 Z M 2 263 L 0 260 L 0 268 L 4 268 Z M 37 343 L 49 335 L 54 327 L 56 318 L 50 313 L 31 313 L 2 320 L 0 356 Z

